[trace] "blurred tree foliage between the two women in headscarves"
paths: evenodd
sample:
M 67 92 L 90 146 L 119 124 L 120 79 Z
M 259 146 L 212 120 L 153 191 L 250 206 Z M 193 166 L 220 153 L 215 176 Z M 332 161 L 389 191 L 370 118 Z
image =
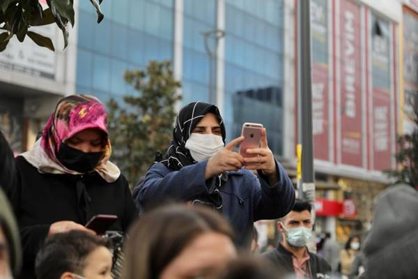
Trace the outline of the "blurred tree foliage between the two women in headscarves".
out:
M 171 62 L 150 61 L 146 70 L 127 70 L 125 81 L 134 86 L 134 96 L 123 104 L 109 100 L 111 160 L 121 168 L 130 185 L 137 183 L 153 163 L 156 151 L 169 144 L 176 117 L 176 93 L 180 82 L 173 77 Z

